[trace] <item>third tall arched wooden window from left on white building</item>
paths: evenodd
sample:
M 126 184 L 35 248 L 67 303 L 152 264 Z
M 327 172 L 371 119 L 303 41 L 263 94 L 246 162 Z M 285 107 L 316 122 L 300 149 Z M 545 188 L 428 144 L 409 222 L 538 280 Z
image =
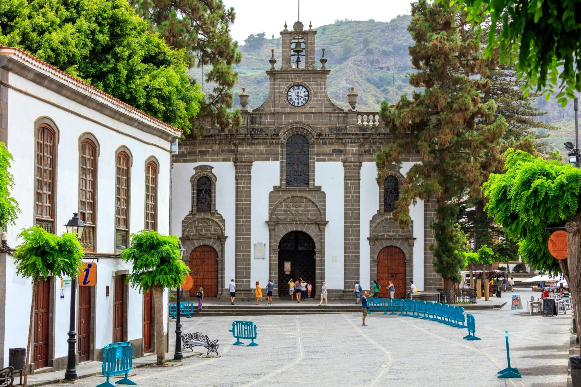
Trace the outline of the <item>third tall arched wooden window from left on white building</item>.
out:
M 121 151 L 116 156 L 115 173 L 115 250 L 127 248 L 129 236 L 130 158 Z

